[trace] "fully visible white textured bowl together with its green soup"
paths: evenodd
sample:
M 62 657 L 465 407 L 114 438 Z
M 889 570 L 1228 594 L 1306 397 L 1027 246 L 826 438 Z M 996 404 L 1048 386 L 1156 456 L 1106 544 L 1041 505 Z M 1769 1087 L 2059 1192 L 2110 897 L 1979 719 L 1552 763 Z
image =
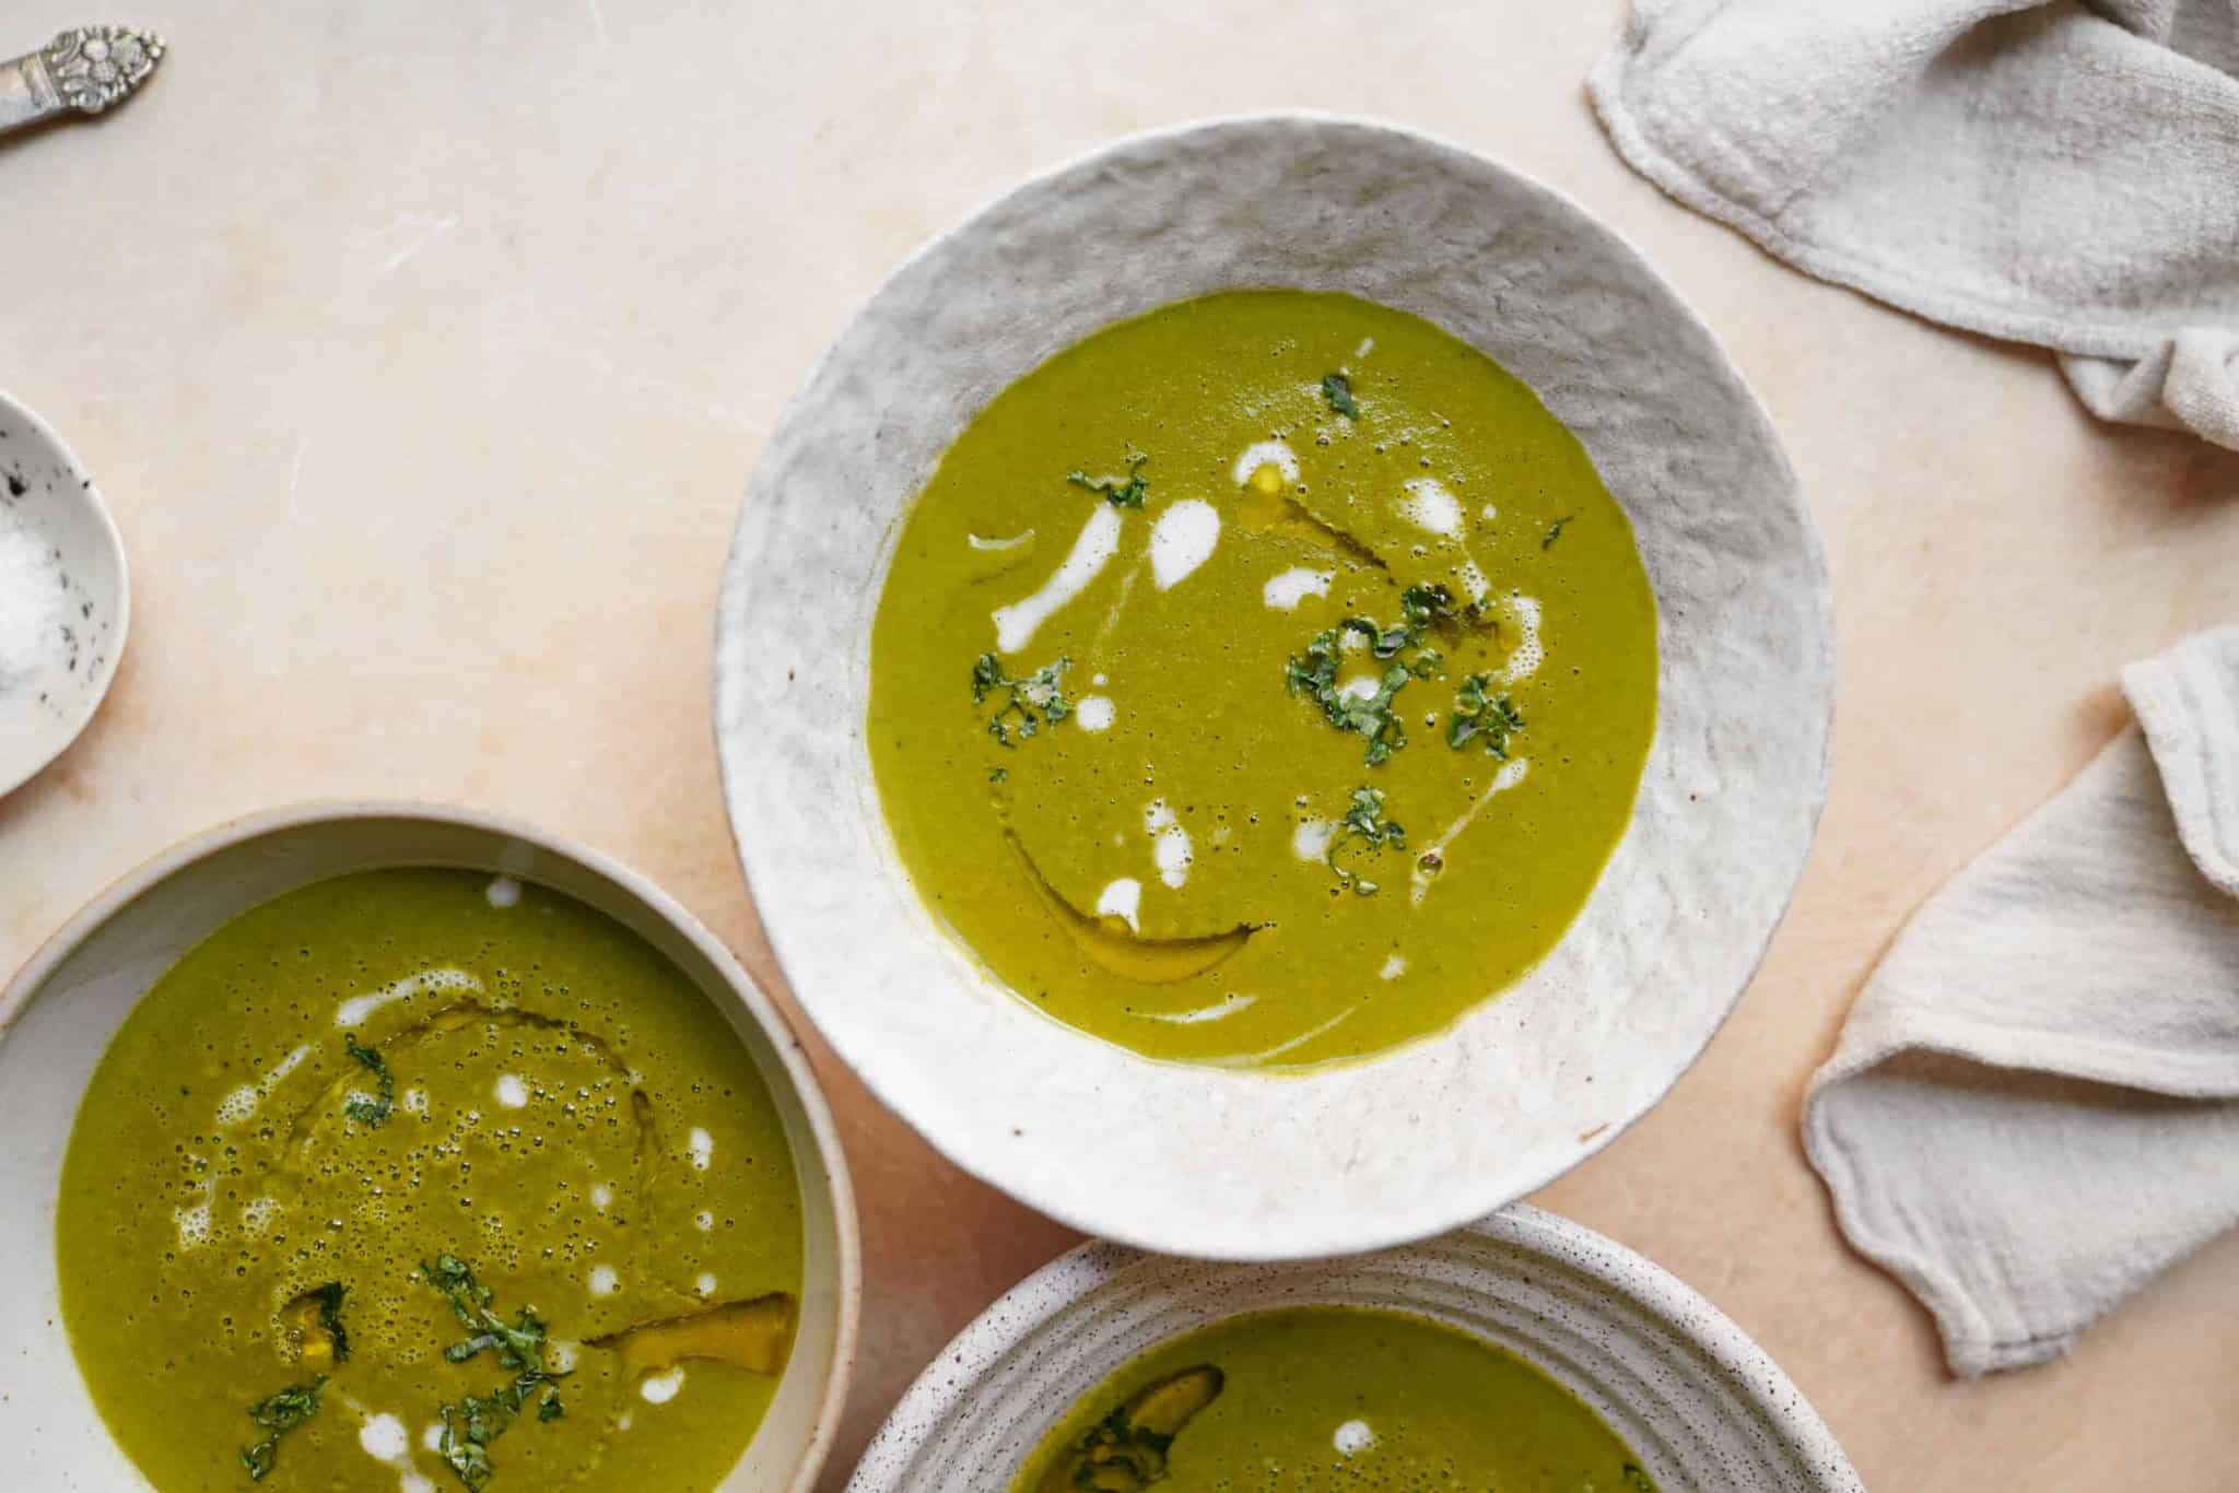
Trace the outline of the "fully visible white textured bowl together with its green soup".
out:
M 1702 322 L 1420 134 L 1122 141 L 900 266 L 739 517 L 716 734 L 804 1010 L 1104 1238 L 1424 1238 L 1608 1144 L 1762 958 L 1827 575 Z

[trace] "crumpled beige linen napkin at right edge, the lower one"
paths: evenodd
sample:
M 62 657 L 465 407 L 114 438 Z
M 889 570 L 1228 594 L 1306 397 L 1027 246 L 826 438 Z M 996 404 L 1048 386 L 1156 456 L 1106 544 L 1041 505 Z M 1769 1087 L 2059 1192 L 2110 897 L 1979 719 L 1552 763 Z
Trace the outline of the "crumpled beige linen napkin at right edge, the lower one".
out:
M 1930 898 L 1805 1097 L 1849 1242 L 1959 1374 L 2053 1359 L 2239 1222 L 2239 627 Z

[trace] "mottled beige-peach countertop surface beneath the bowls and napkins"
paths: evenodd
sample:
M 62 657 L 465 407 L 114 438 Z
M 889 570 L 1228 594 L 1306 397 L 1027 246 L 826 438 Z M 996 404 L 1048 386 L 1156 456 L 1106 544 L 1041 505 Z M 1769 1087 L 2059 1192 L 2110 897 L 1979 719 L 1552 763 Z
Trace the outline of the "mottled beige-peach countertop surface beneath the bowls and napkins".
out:
M 2239 1238 L 2071 1359 L 1955 1383 L 1843 1247 L 1793 1121 L 1903 915 L 2116 730 L 2116 669 L 2230 620 L 2239 457 L 2100 428 L 2042 354 L 1668 204 L 1583 103 L 1619 13 L 16 0 L 0 51 L 107 18 L 172 54 L 119 114 L 0 143 L 0 387 L 78 448 L 134 569 L 107 707 L 0 799 L 0 971 L 213 821 L 419 797 L 634 862 L 779 989 L 708 676 L 786 396 L 896 260 L 1023 172 L 1216 112 L 1379 114 L 1641 244 L 1771 407 L 1834 564 L 1834 788 L 1796 907 L 1670 1099 L 1536 1202 L 1724 1307 L 1879 1491 L 2228 1484 Z M 819 1068 L 866 1236 L 837 1486 L 938 1345 L 1070 1238 Z

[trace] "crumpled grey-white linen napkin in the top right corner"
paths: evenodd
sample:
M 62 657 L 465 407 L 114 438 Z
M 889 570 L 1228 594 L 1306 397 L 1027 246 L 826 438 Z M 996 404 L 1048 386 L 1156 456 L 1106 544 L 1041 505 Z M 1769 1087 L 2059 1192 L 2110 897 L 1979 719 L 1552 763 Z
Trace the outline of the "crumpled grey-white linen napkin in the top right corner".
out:
M 2239 0 L 1634 0 L 1617 150 L 1820 280 L 2239 448 Z

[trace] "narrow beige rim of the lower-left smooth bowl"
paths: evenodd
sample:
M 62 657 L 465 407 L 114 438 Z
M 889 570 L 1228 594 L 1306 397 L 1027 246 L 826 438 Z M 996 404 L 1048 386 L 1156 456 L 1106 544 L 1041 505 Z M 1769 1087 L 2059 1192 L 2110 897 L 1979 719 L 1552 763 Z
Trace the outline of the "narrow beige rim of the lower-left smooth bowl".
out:
M 710 933 L 690 909 L 654 884 L 652 877 L 643 875 L 622 860 L 616 860 L 605 851 L 596 851 L 571 835 L 544 830 L 510 815 L 497 815 L 461 804 L 428 804 L 412 799 L 309 799 L 302 804 L 237 815 L 157 851 L 134 868 L 112 880 L 101 893 L 87 900 L 85 907 L 72 913 L 60 929 L 47 936 L 31 958 L 9 976 L 7 985 L 0 985 L 0 1041 L 7 1041 L 16 1018 L 22 1016 L 31 996 L 47 983 L 63 960 L 76 954 L 87 938 L 99 933 L 110 918 L 148 889 L 172 877 L 181 868 L 237 844 L 280 830 L 316 828 L 322 824 L 345 824 L 356 819 L 405 819 L 470 828 L 522 839 L 551 855 L 573 860 L 587 871 L 620 886 L 625 893 L 643 902 L 654 915 L 667 922 L 676 933 L 681 933 L 701 954 L 701 958 L 705 958 L 716 974 L 723 976 L 723 983 L 730 985 L 730 992 L 755 1018 L 763 1036 L 770 1039 L 770 1045 L 777 1050 L 777 1059 L 784 1065 L 786 1079 L 793 1086 L 802 1110 L 808 1115 L 808 1130 L 824 1153 L 817 1159 L 822 1162 L 831 1191 L 833 1236 L 840 1253 L 833 1365 L 824 1377 L 819 1412 L 815 1428 L 811 1430 L 808 1446 L 802 1450 L 802 1462 L 795 1466 L 793 1480 L 786 1484 L 790 1493 L 806 1493 L 813 1489 L 824 1471 L 824 1464 L 831 1459 L 833 1444 L 840 1437 L 840 1421 L 846 1415 L 849 1390 L 853 1388 L 855 1350 L 862 1325 L 862 1222 L 855 1211 L 855 1184 L 849 1173 L 846 1151 L 840 1144 L 840 1130 L 833 1121 L 831 1104 L 824 1099 L 824 1088 L 817 1081 L 815 1070 L 808 1065 L 806 1048 L 793 1030 L 793 1021 L 786 1012 L 768 996 L 768 992 L 761 989 L 761 985 L 755 983 L 755 976 L 746 971 L 721 938 Z M 811 1168 L 802 1166 L 797 1171 L 806 1173 Z

